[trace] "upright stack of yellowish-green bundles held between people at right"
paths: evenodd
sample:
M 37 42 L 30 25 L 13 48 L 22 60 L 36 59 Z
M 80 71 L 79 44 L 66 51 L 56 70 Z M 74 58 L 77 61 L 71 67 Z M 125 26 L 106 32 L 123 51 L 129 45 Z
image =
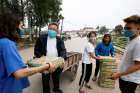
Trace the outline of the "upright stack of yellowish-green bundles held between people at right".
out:
M 100 64 L 99 86 L 104 88 L 115 88 L 115 80 L 109 79 L 117 70 L 115 59 L 112 57 L 103 57 L 103 59 L 100 60 Z

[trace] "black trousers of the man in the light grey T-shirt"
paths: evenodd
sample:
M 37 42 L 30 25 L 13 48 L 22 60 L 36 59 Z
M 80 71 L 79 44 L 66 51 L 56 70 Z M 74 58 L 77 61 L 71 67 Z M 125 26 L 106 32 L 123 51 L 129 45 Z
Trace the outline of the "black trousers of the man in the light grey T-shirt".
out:
M 137 85 L 138 84 L 136 83 L 119 79 L 119 87 L 120 87 L 121 93 L 135 93 Z

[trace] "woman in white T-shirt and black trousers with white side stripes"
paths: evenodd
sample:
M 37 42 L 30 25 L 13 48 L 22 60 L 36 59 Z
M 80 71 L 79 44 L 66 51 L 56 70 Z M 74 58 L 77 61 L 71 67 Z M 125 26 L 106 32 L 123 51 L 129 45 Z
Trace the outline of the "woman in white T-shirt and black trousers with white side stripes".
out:
M 96 32 L 90 32 L 87 35 L 88 42 L 85 45 L 83 58 L 82 58 L 82 75 L 79 81 L 79 92 L 85 93 L 85 88 L 92 89 L 92 87 L 88 84 L 91 74 L 92 74 L 92 60 L 98 59 L 94 53 L 94 45 L 96 43 Z

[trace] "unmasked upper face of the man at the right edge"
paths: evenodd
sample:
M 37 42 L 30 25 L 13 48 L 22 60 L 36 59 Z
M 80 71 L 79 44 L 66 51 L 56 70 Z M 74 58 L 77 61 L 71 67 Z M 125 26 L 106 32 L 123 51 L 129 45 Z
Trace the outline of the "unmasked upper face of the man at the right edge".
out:
M 127 30 L 132 31 L 132 32 L 134 33 L 134 35 L 139 35 L 139 33 L 140 33 L 140 26 L 137 25 L 137 24 L 134 24 L 134 23 L 127 23 L 127 24 L 125 25 L 125 28 L 126 28 Z

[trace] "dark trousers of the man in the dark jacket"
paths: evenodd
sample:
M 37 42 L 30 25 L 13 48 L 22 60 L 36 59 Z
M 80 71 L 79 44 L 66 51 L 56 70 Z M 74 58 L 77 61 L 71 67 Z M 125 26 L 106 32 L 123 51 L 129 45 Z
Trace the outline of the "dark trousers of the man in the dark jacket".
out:
M 58 68 L 55 72 L 51 74 L 42 74 L 42 84 L 43 84 L 43 93 L 50 93 L 50 76 L 52 76 L 52 81 L 54 91 L 59 89 L 59 80 L 61 75 L 62 69 Z

